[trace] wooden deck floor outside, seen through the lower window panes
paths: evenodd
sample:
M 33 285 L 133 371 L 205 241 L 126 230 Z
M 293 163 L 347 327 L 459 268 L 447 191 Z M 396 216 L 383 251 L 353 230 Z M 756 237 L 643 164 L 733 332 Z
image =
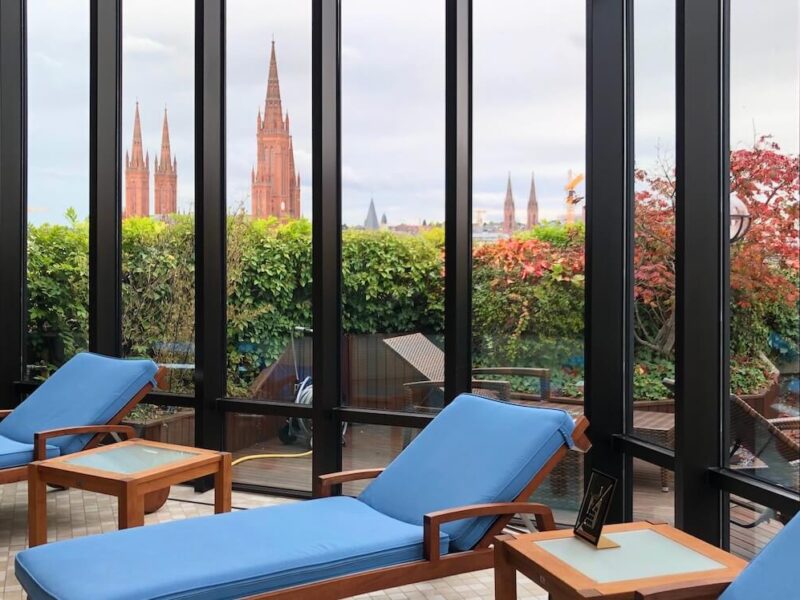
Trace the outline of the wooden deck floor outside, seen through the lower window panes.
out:
M 281 420 L 282 421 L 282 420 Z M 344 469 L 362 469 L 386 466 L 401 451 L 411 431 L 402 427 L 351 424 L 345 435 L 342 448 Z M 255 444 L 246 450 L 234 453 L 234 457 L 249 454 L 300 454 L 308 451 L 302 442 L 291 445 L 282 444 L 277 438 Z M 275 488 L 309 491 L 311 489 L 311 456 L 297 458 L 260 459 L 234 467 L 234 482 L 266 485 Z M 670 489 L 661 488 L 661 470 L 649 463 L 634 460 L 634 499 L 635 520 L 674 521 L 674 494 L 672 477 Z M 365 483 L 347 484 L 346 494 L 357 494 Z M 575 520 L 579 492 L 577 484 L 569 486 L 566 493 L 554 492 L 548 481 L 540 486 L 534 498 L 554 507 L 556 520 L 567 526 Z M 732 504 L 731 516 L 734 520 L 751 523 L 758 518 L 761 507 Z M 782 525 L 769 519 L 747 529 L 731 524 L 731 550 L 744 558 L 752 558 L 768 542 Z

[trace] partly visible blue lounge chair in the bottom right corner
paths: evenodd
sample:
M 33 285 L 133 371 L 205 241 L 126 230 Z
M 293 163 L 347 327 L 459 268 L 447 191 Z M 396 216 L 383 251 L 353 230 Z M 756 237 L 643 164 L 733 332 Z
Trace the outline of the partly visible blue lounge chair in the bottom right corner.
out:
M 636 600 L 789 600 L 800 597 L 800 517 L 794 517 L 758 553 L 731 584 L 718 581 L 698 582 L 692 587 L 663 585 L 641 590 Z M 723 591 L 724 590 L 724 591 Z M 721 594 L 721 595 L 720 595 Z

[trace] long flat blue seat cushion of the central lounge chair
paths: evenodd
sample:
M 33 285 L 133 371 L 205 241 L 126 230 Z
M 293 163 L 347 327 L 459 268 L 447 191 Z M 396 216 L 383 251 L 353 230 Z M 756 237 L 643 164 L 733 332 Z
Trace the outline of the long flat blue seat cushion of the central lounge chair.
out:
M 38 546 L 16 574 L 31 600 L 217 600 L 421 558 L 421 527 L 335 497 Z

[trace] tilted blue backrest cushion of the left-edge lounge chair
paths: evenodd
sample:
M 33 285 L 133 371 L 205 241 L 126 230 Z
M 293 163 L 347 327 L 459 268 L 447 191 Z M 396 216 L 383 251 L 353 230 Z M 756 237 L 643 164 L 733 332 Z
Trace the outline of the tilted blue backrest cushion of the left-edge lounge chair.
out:
M 23 444 L 46 429 L 105 425 L 152 380 L 158 367 L 152 360 L 123 360 L 84 352 L 67 361 L 9 416 L 0 435 Z M 53 438 L 61 454 L 81 450 L 91 435 Z

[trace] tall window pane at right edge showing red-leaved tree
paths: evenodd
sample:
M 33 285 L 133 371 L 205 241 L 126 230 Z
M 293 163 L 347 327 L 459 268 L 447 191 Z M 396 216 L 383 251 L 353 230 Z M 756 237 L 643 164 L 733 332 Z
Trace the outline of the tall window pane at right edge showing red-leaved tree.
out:
M 800 489 L 800 7 L 731 4 L 729 465 Z M 769 25 L 769 35 L 763 35 Z M 735 227 L 746 213 L 748 227 Z M 732 537 L 734 529 L 731 529 Z

